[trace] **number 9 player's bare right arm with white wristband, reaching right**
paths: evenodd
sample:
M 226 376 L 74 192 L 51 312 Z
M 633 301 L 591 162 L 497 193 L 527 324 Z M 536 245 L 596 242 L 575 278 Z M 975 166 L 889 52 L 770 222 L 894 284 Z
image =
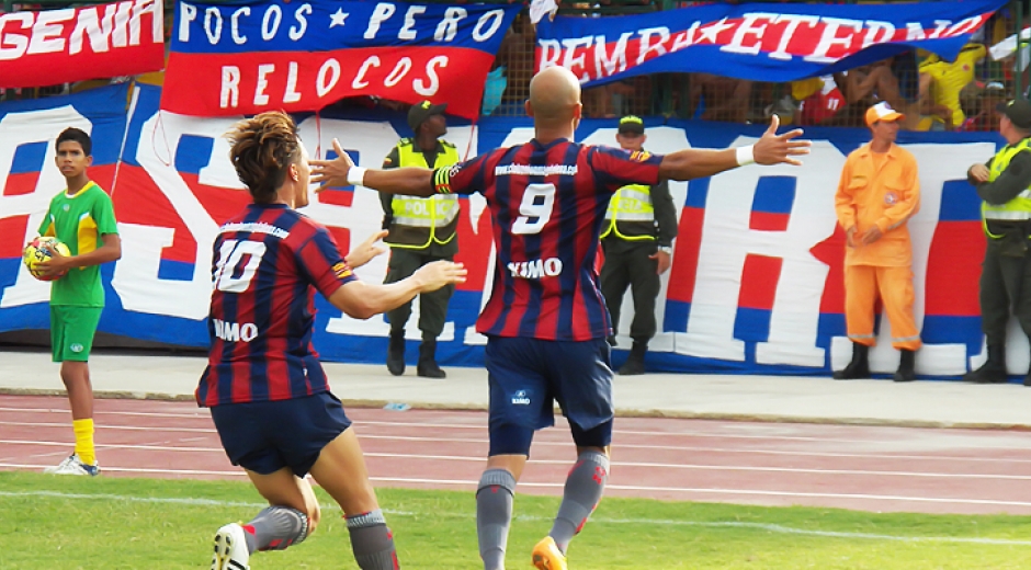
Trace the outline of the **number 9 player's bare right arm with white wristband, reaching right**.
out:
M 797 139 L 802 136 L 801 128 L 778 135 L 777 128 L 779 126 L 780 117 L 773 115 L 770 128 L 762 134 L 762 138 L 751 147 L 743 149 L 710 150 L 689 148 L 670 152 L 662 158 L 662 162 L 659 164 L 659 178 L 680 181 L 693 180 L 712 176 L 751 162 L 801 166 L 802 162 L 795 157 L 808 155 L 812 142 Z

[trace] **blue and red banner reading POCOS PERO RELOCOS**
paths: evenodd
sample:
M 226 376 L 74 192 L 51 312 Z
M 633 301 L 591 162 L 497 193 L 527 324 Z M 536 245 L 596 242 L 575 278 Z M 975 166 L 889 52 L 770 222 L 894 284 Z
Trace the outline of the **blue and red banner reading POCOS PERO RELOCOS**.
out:
M 180 1 L 161 109 L 220 116 L 318 111 L 345 96 L 479 113 L 520 4 Z

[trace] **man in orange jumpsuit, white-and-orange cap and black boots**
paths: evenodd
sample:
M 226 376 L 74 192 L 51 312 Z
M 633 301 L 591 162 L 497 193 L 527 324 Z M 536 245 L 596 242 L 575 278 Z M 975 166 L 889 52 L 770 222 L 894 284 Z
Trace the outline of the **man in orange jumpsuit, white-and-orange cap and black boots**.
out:
M 876 342 L 874 307 L 880 295 L 899 350 L 895 381 L 911 381 L 920 332 L 913 319 L 913 248 L 906 223 L 920 207 L 917 161 L 895 145 L 902 113 L 887 103 L 866 110 L 873 139 L 849 155 L 835 195 L 846 231 L 845 319 L 852 362 L 835 379 L 869 378 L 866 358 Z

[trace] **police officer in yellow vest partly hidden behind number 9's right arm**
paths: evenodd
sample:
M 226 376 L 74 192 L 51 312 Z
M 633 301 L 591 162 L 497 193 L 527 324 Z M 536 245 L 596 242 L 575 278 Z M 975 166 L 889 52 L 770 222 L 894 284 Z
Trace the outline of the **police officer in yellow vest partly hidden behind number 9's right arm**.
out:
M 615 135 L 620 147 L 632 152 L 646 152 L 648 137 L 644 122 L 635 116 L 620 119 Z M 655 299 L 661 283 L 659 275 L 669 269 L 672 242 L 677 237 L 677 210 L 666 181 L 655 186 L 623 186 L 612 196 L 601 232 L 605 263 L 601 267 L 601 293 L 612 316 L 612 327 L 620 323 L 620 306 L 626 287 L 634 297 L 634 339 L 630 356 L 620 374 L 644 374 L 648 341 L 655 337 Z M 609 339 L 615 345 L 615 337 Z

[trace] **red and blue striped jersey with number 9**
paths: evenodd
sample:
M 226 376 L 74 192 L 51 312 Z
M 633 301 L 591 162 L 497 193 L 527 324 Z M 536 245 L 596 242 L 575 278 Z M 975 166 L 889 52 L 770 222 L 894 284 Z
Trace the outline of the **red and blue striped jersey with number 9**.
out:
M 433 173 L 439 193 L 480 192 L 497 251 L 476 330 L 494 337 L 585 341 L 611 332 L 594 261 L 609 200 L 658 183 L 661 156 L 531 140 Z

